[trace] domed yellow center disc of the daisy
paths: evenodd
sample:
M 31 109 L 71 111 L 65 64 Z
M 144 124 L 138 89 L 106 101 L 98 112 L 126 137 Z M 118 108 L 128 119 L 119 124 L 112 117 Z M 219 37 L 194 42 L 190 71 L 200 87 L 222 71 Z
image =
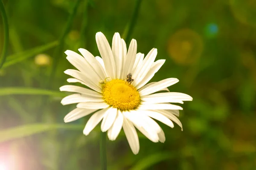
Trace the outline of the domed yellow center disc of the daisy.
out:
M 140 94 L 130 83 L 113 79 L 103 85 L 103 99 L 113 108 L 122 111 L 136 109 L 140 105 Z

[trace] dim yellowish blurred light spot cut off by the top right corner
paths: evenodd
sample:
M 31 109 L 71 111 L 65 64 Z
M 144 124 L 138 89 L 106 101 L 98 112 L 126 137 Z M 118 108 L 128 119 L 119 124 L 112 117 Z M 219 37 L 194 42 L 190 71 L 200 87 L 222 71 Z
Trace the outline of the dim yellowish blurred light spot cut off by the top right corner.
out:
M 230 8 L 239 22 L 256 27 L 255 0 L 230 0 Z

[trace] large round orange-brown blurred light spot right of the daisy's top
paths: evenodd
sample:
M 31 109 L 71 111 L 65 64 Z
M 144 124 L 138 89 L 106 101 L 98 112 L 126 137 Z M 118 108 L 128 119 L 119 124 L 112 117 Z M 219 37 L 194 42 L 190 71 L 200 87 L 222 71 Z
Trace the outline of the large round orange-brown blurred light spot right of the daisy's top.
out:
M 181 29 L 169 39 L 167 50 L 177 64 L 189 65 L 201 56 L 203 40 L 195 31 Z

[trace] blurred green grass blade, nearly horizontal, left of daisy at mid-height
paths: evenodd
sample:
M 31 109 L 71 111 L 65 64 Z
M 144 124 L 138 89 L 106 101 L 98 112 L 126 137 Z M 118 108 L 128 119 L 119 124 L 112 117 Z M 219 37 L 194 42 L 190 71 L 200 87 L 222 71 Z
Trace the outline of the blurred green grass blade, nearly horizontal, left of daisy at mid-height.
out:
M 0 96 L 12 95 L 12 94 L 30 94 L 30 95 L 47 95 L 64 97 L 66 96 L 61 91 L 50 91 L 40 88 L 0 88 Z

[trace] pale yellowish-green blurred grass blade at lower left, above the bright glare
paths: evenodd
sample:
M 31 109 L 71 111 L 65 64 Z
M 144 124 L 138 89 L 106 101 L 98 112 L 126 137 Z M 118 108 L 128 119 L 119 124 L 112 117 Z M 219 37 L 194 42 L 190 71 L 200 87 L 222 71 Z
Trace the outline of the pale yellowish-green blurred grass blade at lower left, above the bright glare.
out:
M 81 130 L 84 126 L 82 125 L 67 125 L 67 124 L 46 124 L 46 123 L 35 123 L 23 126 L 12 127 L 5 130 L 0 130 L 0 142 L 5 142 L 12 139 L 17 139 L 25 136 L 30 136 L 36 133 L 42 133 L 49 130 L 55 129 L 66 129 L 66 130 Z

